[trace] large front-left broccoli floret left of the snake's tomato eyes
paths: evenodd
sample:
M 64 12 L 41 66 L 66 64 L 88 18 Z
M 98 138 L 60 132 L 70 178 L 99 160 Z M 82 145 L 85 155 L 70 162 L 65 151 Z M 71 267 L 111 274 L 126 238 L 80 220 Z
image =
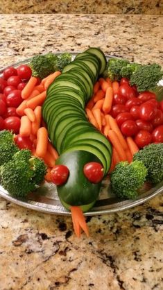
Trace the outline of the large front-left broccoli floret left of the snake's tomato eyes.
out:
M 11 196 L 24 198 L 44 180 L 46 165 L 23 149 L 0 167 L 1 185 Z

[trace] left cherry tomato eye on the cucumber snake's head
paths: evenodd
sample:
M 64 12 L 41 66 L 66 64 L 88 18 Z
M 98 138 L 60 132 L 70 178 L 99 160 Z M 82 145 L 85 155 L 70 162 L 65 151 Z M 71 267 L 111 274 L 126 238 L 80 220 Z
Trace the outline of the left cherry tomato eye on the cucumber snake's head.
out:
M 55 185 L 63 185 L 69 176 L 69 169 L 65 165 L 55 165 L 51 169 L 51 180 Z

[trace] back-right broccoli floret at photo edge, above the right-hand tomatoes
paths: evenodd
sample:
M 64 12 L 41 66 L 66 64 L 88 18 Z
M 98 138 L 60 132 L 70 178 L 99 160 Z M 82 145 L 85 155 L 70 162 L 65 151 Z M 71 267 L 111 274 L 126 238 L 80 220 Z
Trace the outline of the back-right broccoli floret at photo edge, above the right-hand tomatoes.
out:
M 136 85 L 138 92 L 154 89 L 163 76 L 162 67 L 157 64 L 140 65 L 130 76 L 130 85 Z

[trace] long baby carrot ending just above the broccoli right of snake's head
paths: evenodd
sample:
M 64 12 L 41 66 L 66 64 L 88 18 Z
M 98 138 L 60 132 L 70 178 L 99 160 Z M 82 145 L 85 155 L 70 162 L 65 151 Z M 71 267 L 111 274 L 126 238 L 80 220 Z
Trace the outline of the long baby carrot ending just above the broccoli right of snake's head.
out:
M 117 137 L 117 134 L 113 130 L 109 130 L 108 137 L 110 139 L 110 142 L 112 143 L 112 145 L 116 149 L 116 151 L 120 157 L 120 160 L 126 161 L 127 160 L 126 153 L 125 153 L 123 147 L 121 146 L 121 143 L 119 142 L 119 138 Z

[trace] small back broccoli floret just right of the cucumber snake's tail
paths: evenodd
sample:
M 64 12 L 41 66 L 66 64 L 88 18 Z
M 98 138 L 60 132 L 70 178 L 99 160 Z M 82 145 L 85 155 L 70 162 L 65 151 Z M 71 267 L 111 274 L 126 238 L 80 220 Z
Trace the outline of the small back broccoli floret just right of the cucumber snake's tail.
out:
M 121 69 L 126 67 L 130 62 L 120 58 L 110 58 L 108 61 L 108 77 L 111 80 L 119 80 L 121 78 Z

